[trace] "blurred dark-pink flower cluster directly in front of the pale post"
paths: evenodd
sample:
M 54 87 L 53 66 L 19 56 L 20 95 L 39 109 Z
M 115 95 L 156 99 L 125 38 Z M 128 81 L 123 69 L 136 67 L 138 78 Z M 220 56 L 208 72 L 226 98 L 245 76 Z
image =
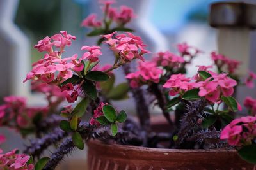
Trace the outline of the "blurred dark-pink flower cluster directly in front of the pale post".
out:
M 230 59 L 225 55 L 218 54 L 216 52 L 211 53 L 211 58 L 214 60 L 214 63 L 221 71 L 227 70 L 228 73 L 233 74 L 236 72 L 237 68 L 241 64 L 240 61 L 235 59 Z

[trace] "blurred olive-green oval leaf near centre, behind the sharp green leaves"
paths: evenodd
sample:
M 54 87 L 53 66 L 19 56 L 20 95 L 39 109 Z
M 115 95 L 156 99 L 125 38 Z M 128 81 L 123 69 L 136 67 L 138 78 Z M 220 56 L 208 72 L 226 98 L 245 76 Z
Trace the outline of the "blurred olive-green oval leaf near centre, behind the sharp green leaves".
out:
M 120 83 L 109 92 L 107 98 L 113 100 L 124 99 L 127 96 L 127 92 L 129 92 L 128 83 Z

